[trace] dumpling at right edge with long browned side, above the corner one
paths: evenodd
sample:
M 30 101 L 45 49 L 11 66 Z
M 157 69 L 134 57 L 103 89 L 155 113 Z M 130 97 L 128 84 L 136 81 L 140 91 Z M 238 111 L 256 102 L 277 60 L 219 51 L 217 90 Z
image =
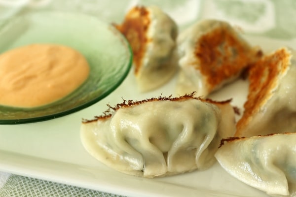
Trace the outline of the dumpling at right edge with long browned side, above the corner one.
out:
M 296 132 L 296 58 L 286 48 L 249 70 L 249 95 L 235 136 Z

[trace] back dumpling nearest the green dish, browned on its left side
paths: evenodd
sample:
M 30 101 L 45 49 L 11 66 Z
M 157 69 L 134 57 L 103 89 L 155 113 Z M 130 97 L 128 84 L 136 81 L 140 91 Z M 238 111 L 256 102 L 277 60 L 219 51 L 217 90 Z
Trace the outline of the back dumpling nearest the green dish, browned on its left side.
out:
M 156 6 L 136 6 L 116 28 L 129 41 L 139 90 L 160 87 L 177 71 L 176 23 Z

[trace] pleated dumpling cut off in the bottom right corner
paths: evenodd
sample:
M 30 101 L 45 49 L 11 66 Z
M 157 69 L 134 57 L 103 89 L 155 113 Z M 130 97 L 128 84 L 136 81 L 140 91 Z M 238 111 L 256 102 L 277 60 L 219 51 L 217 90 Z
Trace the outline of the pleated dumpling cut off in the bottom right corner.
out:
M 240 181 L 277 197 L 296 197 L 296 133 L 233 138 L 215 154 Z

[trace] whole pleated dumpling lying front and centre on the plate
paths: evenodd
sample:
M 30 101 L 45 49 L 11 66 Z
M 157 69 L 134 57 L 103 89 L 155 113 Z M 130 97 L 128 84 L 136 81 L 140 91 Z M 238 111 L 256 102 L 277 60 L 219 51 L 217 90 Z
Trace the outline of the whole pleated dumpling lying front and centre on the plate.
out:
M 85 149 L 118 171 L 144 177 L 166 176 L 215 163 L 220 140 L 233 136 L 234 110 L 228 101 L 185 95 L 117 104 L 84 121 Z

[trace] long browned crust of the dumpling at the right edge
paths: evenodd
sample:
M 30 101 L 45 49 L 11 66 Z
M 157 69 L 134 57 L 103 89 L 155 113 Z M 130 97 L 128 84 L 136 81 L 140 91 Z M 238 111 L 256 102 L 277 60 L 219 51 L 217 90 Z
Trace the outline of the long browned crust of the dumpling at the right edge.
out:
M 287 71 L 290 58 L 290 52 L 286 48 L 281 48 L 250 67 L 249 95 L 244 104 L 243 116 L 236 125 L 235 136 L 243 135 L 242 129 L 248 126 L 251 118 L 272 97 L 272 90 L 278 86 L 279 78 Z

